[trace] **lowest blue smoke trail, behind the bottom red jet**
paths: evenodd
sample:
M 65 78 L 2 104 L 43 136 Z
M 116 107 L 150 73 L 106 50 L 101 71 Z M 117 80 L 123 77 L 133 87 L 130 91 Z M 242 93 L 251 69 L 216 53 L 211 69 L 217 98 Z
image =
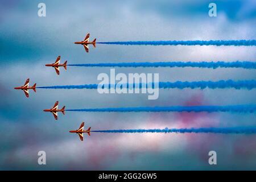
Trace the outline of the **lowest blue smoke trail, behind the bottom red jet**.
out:
M 95 130 L 98 133 L 220 133 L 256 134 L 256 127 L 201 127 L 191 129 L 138 129 L 138 130 Z

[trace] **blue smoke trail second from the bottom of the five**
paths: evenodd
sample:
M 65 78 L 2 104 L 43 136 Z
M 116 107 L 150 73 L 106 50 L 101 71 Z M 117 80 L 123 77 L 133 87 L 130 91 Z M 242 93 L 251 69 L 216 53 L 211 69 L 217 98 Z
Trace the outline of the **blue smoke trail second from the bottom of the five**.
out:
M 66 111 L 81 112 L 237 112 L 254 113 L 256 105 L 227 105 L 227 106 L 156 106 L 156 107 L 112 107 L 96 109 L 67 109 Z

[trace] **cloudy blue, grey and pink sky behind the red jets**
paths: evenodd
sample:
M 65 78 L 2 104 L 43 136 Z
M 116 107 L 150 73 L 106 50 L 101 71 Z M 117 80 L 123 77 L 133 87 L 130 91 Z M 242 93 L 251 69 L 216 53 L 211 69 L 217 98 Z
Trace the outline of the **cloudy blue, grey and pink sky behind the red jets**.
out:
M 46 17 L 38 4 L 46 4 Z M 209 17 L 215 2 L 217 17 Z M 92 133 L 81 142 L 81 122 L 92 130 L 255 126 L 255 113 L 83 113 L 43 109 L 256 104 L 255 89 L 160 89 L 146 94 L 99 94 L 85 89 L 30 90 L 15 86 L 97 84 L 110 68 L 60 68 L 53 63 L 154 61 L 254 61 L 255 47 L 119 46 L 96 44 L 89 53 L 74 44 L 90 33 L 99 42 L 127 40 L 256 39 L 255 1 L 3 1 L 0 0 L 1 170 L 223 170 L 256 169 L 256 136 L 244 134 Z M 254 80 L 254 69 L 115 68 L 116 73 L 159 73 L 159 81 Z M 208 152 L 217 152 L 209 165 Z M 46 151 L 46 165 L 38 164 Z

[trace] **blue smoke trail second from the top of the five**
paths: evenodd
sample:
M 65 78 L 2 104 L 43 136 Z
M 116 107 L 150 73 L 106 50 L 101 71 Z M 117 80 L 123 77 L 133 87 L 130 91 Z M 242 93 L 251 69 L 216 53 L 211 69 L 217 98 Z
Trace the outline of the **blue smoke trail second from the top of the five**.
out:
M 144 63 L 95 63 L 95 64 L 68 64 L 73 67 L 198 67 L 198 68 L 244 68 L 244 69 L 256 69 L 256 62 L 250 61 L 234 61 L 234 62 L 144 62 Z

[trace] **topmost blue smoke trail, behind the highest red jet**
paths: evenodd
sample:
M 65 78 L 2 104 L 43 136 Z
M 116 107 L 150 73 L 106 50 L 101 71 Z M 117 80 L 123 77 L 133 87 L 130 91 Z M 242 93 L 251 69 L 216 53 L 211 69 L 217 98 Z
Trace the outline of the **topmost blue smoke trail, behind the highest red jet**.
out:
M 256 40 L 167 40 L 167 41 L 127 41 L 98 42 L 97 44 L 150 45 L 150 46 L 256 46 Z

